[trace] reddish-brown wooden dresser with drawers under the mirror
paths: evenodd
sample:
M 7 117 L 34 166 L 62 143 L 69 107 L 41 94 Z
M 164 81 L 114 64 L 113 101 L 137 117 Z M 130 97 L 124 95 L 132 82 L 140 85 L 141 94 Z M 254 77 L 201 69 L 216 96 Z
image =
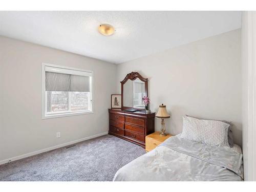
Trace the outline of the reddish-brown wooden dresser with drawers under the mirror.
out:
M 145 136 L 155 131 L 155 113 L 109 109 L 109 134 L 145 148 Z

